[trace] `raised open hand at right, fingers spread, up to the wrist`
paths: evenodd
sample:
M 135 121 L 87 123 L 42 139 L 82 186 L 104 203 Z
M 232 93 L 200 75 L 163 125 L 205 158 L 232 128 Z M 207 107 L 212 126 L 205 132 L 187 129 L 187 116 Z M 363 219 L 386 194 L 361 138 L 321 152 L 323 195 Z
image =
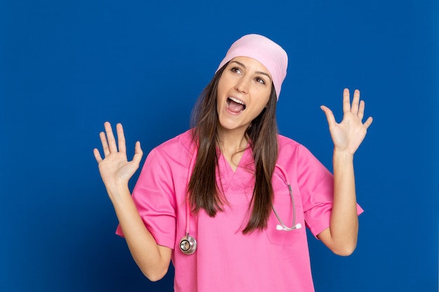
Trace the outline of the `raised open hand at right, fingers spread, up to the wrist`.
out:
M 363 123 L 365 102 L 360 101 L 360 91 L 353 92 L 352 104 L 347 88 L 343 91 L 343 120 L 335 121 L 334 114 L 326 106 L 320 106 L 325 112 L 335 151 L 346 151 L 353 155 L 365 138 L 372 117 Z

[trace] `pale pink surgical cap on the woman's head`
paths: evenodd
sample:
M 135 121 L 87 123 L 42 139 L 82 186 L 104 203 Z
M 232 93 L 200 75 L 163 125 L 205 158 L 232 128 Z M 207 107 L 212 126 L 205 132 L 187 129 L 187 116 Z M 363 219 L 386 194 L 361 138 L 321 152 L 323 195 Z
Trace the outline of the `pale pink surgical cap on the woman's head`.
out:
M 251 57 L 263 64 L 273 78 L 274 89 L 279 99 L 288 66 L 288 55 L 281 46 L 259 34 L 245 35 L 231 45 L 217 71 L 234 57 Z

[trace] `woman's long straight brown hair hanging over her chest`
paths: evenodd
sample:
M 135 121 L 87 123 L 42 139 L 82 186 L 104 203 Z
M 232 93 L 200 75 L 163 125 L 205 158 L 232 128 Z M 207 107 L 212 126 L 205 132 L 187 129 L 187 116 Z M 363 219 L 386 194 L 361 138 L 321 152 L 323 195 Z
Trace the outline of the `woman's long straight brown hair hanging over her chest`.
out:
M 228 63 L 227 63 L 228 64 Z M 201 93 L 192 114 L 193 139 L 198 146 L 198 154 L 189 181 L 189 202 L 192 211 L 204 209 L 214 217 L 217 211 L 224 211 L 227 202 L 222 190 L 217 186 L 217 88 L 227 64 L 217 71 L 212 81 Z M 278 157 L 278 127 L 276 123 L 276 91 L 271 85 L 271 94 L 266 108 L 257 116 L 245 134 L 250 141 L 255 160 L 255 188 L 253 189 L 250 219 L 243 233 L 266 228 L 273 202 L 271 176 Z

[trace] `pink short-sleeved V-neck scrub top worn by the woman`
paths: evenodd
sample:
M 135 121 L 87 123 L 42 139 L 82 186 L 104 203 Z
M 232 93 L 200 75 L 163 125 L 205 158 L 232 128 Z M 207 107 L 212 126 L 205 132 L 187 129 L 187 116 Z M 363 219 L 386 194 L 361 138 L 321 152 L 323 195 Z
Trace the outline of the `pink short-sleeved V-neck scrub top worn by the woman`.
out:
M 332 174 L 302 145 L 278 135 L 278 165 L 273 174 L 273 206 L 285 225 L 296 223 L 318 235 L 330 225 Z M 191 214 L 189 234 L 196 238 L 194 254 L 180 251 L 187 226 L 187 183 L 193 165 L 191 131 L 166 141 L 149 153 L 133 190 L 133 200 L 157 244 L 173 249 L 174 289 L 177 292 L 295 291 L 312 292 L 313 280 L 305 228 L 276 230 L 273 211 L 263 231 L 243 235 L 255 178 L 252 151 L 244 153 L 236 172 L 220 155 L 217 173 L 227 204 L 214 218 L 201 210 Z M 357 205 L 358 214 L 363 210 Z M 116 234 L 123 236 L 120 226 Z

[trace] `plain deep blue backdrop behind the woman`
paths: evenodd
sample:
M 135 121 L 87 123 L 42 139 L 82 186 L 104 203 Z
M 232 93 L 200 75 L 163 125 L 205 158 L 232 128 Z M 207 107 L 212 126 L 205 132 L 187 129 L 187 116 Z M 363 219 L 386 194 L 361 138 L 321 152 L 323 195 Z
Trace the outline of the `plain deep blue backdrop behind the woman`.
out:
M 438 291 L 438 1 L 0 1 L 0 290 L 172 291 L 133 262 L 93 158 L 105 120 L 147 153 L 187 130 L 231 43 L 287 50 L 281 134 L 331 168 L 320 104 L 358 88 L 356 252 L 310 238 L 316 291 Z M 138 174 L 137 174 L 138 175 Z M 133 186 L 135 179 L 131 182 Z

